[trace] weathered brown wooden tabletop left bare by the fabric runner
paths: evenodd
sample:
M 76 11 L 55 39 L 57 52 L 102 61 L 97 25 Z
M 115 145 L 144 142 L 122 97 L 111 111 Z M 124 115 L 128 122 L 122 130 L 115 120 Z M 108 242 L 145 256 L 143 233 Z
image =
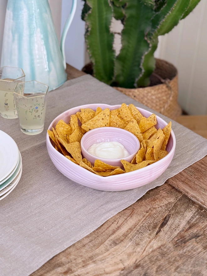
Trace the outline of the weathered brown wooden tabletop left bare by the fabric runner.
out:
M 84 73 L 67 66 L 68 78 Z M 207 156 L 59 253 L 32 276 L 207 275 Z

